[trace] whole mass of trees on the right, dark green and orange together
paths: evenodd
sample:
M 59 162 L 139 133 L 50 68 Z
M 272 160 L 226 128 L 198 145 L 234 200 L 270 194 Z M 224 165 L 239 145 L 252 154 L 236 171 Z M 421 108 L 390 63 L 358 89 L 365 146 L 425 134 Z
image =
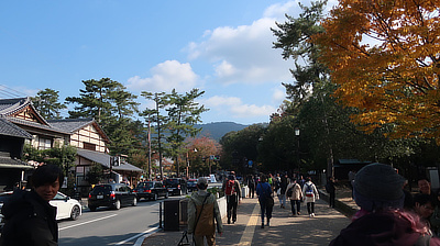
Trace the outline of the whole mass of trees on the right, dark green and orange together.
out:
M 380 161 L 408 179 L 438 167 L 440 3 L 346 0 L 327 16 L 326 4 L 299 3 L 272 29 L 294 81 L 267 126 L 222 137 L 226 158 L 330 176 L 338 159 Z

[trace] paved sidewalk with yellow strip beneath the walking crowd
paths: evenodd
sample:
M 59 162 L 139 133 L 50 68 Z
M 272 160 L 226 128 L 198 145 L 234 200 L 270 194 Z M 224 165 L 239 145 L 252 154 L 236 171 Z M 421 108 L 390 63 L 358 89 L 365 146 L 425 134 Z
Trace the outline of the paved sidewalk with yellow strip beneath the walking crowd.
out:
M 322 198 L 326 199 L 326 194 Z M 257 199 L 245 198 L 239 205 L 235 224 L 227 224 L 227 219 L 223 219 L 224 232 L 222 236 L 217 235 L 217 245 L 328 245 L 350 224 L 350 219 L 329 209 L 322 199 L 317 201 L 315 214 L 315 217 L 309 217 L 306 204 L 301 203 L 301 215 L 293 216 L 289 202 L 286 209 L 280 209 L 275 198 L 271 226 L 261 228 Z M 146 237 L 142 246 L 177 245 L 185 230 L 160 231 Z

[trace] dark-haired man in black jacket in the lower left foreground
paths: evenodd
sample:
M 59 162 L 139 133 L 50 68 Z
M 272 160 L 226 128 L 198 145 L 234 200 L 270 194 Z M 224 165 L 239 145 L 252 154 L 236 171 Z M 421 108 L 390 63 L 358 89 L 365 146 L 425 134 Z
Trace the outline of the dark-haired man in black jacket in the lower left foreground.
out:
M 56 246 L 56 208 L 48 202 L 59 190 L 63 172 L 56 165 L 43 165 L 32 175 L 32 190 L 16 190 L 3 205 L 6 224 L 1 246 Z

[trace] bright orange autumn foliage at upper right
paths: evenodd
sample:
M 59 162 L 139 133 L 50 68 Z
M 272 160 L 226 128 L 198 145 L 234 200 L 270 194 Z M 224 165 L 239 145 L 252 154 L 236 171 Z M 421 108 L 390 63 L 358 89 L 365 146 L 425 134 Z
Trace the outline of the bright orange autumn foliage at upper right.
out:
M 352 121 L 440 144 L 440 1 L 340 0 L 312 37 Z

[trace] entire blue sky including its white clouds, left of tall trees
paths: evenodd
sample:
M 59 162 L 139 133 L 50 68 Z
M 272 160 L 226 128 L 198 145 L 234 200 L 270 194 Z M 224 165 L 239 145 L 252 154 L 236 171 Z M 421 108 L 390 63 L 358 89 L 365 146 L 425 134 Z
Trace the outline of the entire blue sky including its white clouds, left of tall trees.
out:
M 0 1 L 0 91 L 51 88 L 64 101 L 108 77 L 138 96 L 199 88 L 202 123 L 268 122 L 294 82 L 270 29 L 300 12 L 272 0 Z

